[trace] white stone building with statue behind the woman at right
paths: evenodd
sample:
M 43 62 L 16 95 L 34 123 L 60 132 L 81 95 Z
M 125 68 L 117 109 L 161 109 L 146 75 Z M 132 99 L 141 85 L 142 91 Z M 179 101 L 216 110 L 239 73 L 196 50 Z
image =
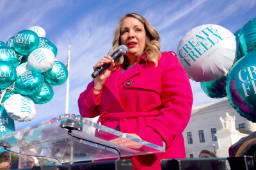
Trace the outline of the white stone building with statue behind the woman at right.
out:
M 235 120 L 222 121 L 228 117 Z M 201 150 L 215 151 L 218 157 L 228 157 L 228 148 L 256 131 L 256 124 L 236 112 L 228 100 L 193 107 L 191 119 L 183 132 L 187 158 L 198 158 Z

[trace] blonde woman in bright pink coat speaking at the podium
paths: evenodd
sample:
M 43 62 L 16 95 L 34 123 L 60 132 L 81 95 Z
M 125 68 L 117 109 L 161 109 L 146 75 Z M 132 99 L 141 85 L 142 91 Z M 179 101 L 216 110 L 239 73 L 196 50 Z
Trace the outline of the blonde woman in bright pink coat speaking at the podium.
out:
M 111 51 L 125 45 L 127 53 L 116 61 L 111 56 L 100 59 L 93 70 L 111 65 L 88 84 L 78 100 L 84 118 L 100 115 L 101 125 L 159 146 L 166 143 L 165 153 L 125 157 L 132 159 L 134 169 L 161 169 L 163 158 L 186 157 L 182 132 L 191 116 L 191 86 L 175 52 L 161 52 L 159 40 L 144 17 L 124 15 Z M 129 148 L 142 146 L 103 131 L 95 135 Z

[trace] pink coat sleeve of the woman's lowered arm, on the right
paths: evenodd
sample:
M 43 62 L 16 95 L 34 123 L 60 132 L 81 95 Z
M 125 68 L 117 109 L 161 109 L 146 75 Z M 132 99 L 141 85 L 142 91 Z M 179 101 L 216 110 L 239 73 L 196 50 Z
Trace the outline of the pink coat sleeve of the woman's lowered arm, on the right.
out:
M 159 59 L 162 70 L 162 102 L 156 116 L 146 127 L 141 128 L 137 135 L 145 141 L 162 139 L 166 146 L 182 135 L 191 117 L 193 95 L 188 75 L 179 63 L 176 56 L 164 52 Z M 153 136 L 153 137 L 152 137 Z

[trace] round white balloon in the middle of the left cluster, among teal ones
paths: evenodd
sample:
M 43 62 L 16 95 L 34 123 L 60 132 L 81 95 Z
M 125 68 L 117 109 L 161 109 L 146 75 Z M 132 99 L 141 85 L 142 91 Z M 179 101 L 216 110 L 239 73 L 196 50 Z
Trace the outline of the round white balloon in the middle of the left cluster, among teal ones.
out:
M 46 72 L 54 64 L 54 53 L 46 48 L 33 50 L 28 56 L 28 69 L 37 72 Z

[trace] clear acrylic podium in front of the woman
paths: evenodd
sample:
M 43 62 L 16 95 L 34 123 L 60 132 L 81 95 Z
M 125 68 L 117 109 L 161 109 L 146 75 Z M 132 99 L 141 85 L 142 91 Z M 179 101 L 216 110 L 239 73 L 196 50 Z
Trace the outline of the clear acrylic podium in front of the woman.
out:
M 109 142 L 109 139 L 116 137 L 140 143 L 141 147 L 127 148 Z M 19 153 L 19 167 L 22 167 L 22 157 L 26 156 L 38 158 L 40 166 L 44 166 L 118 159 L 165 151 L 164 143 L 163 146 L 157 146 L 75 114 L 64 114 L 4 135 L 0 137 L 0 146 L 5 150 Z

